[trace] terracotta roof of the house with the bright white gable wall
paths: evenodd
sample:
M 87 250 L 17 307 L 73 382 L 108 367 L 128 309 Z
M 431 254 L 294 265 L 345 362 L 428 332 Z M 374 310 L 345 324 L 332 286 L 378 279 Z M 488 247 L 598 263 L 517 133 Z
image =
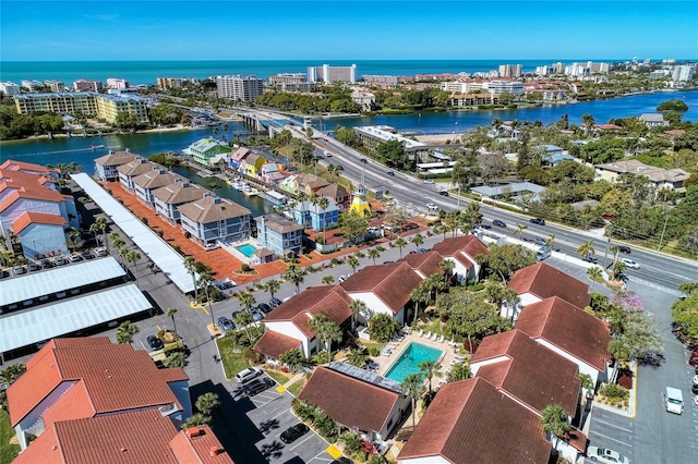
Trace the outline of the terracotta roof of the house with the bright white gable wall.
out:
M 352 315 L 349 308 L 351 301 L 339 285 L 309 286 L 274 309 L 265 321 L 291 321 L 308 339 L 312 339 L 315 337 L 310 328 L 312 316 L 323 314 L 341 326 Z

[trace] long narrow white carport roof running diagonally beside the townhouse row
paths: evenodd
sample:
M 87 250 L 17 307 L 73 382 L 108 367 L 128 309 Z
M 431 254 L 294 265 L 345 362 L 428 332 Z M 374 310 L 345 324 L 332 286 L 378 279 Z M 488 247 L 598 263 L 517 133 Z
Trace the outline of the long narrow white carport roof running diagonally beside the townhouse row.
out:
M 192 274 L 184 267 L 184 258 L 127 207 L 121 205 L 101 185 L 84 172 L 72 174 L 72 179 L 93 202 L 113 220 L 135 245 L 157 265 L 182 293 L 194 291 Z M 197 277 L 196 277 L 197 278 Z

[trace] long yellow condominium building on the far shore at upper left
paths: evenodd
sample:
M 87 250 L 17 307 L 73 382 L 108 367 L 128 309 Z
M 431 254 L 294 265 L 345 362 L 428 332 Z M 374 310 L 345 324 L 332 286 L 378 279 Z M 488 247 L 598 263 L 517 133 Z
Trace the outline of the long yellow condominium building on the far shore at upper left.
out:
M 20 114 L 47 111 L 59 114 L 81 112 L 87 117 L 113 122 L 117 114 L 128 112 L 139 122 L 147 122 L 147 102 L 135 96 L 105 95 L 94 91 L 70 91 L 53 94 L 25 94 L 14 96 Z

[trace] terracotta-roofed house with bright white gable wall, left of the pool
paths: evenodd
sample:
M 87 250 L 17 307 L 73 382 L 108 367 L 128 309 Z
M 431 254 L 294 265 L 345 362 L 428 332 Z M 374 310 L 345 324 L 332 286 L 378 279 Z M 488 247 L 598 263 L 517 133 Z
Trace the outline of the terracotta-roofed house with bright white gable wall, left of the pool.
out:
M 311 329 L 313 316 L 323 315 L 344 331 L 352 316 L 350 304 L 351 298 L 339 285 L 310 286 L 269 313 L 264 319 L 264 334 L 254 350 L 270 362 L 291 349 L 299 349 L 310 358 L 325 349 L 324 340 Z

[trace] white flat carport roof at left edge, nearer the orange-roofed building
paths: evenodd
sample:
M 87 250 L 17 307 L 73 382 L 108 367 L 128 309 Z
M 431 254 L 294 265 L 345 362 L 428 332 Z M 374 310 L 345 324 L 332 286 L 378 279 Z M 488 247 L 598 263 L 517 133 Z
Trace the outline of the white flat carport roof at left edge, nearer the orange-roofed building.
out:
M 9 351 L 55 337 L 118 320 L 152 307 L 141 290 L 134 283 L 130 283 L 61 303 L 0 316 L 0 354 L 4 355 Z

